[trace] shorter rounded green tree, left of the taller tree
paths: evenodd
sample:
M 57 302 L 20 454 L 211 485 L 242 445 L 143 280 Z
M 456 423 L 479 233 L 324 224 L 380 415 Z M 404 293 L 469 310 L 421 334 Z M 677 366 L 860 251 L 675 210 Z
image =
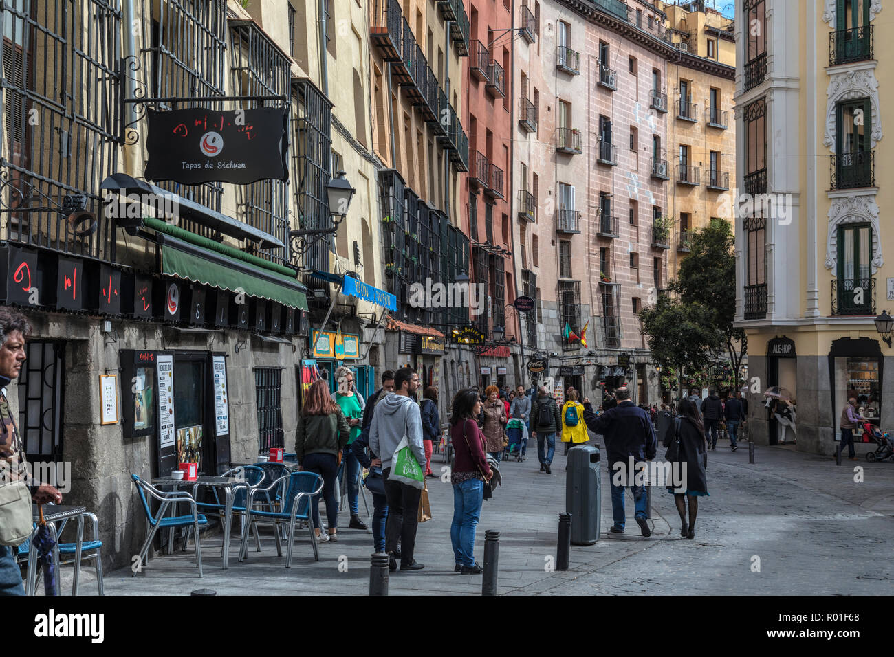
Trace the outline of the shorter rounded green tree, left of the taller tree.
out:
M 639 320 L 653 357 L 676 370 L 679 382 L 684 369 L 703 369 L 723 348 L 724 336 L 714 325 L 713 310 L 697 301 L 684 303 L 662 295 L 658 303 L 640 312 Z M 682 394 L 682 383 L 679 385 Z

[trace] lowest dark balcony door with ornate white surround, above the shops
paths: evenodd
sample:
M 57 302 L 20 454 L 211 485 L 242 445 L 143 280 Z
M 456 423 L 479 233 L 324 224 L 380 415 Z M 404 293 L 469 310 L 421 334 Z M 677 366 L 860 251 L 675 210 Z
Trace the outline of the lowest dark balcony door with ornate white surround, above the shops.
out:
M 856 224 L 838 231 L 839 315 L 868 315 L 873 312 L 873 229 Z

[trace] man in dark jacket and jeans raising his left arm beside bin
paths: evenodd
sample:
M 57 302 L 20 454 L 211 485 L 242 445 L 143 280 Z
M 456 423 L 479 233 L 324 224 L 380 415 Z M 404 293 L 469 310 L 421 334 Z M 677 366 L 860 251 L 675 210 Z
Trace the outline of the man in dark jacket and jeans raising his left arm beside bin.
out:
M 615 391 L 615 399 L 618 401 L 618 406 L 608 409 L 598 417 L 593 412 L 592 404 L 589 402 L 584 404 L 586 428 L 594 434 L 603 434 L 611 472 L 617 469 L 616 463 L 622 463 L 624 468 L 627 468 L 628 460 L 631 457 L 635 464 L 654 459 L 658 446 L 649 414 L 630 401 L 630 391 L 627 388 L 618 388 Z M 628 476 L 633 476 L 633 473 L 628 473 Z M 624 533 L 624 484 L 626 483 L 621 482 L 620 485 L 615 485 L 614 477 L 611 477 L 611 510 L 614 517 L 611 532 L 614 534 Z M 645 518 L 645 486 L 632 485 L 630 488 L 636 505 L 634 518 L 647 538 L 652 532 L 649 530 L 649 524 Z

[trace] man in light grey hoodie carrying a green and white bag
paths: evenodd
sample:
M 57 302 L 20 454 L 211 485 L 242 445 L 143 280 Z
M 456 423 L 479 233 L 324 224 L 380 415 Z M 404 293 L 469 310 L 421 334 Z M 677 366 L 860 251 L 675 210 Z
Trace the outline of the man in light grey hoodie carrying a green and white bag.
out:
M 394 392 L 376 404 L 373 424 L 369 429 L 369 449 L 382 459 L 385 498 L 388 500 L 388 521 L 385 525 L 385 550 L 391 555 L 388 567 L 397 569 L 398 539 L 401 541 L 401 570 L 420 570 L 423 565 L 413 559 L 416 545 L 419 500 L 422 491 L 409 484 L 388 478 L 392 459 L 404 434 L 416 460 L 426 462 L 426 447 L 422 442 L 422 417 L 416 403 L 419 375 L 410 367 L 401 367 L 394 375 Z

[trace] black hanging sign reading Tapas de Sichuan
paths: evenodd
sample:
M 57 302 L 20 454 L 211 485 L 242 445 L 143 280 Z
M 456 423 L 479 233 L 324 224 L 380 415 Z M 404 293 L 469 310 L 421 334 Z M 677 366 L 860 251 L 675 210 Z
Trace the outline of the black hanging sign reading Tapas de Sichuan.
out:
M 146 178 L 185 185 L 284 181 L 287 121 L 284 107 L 232 112 L 150 109 Z

